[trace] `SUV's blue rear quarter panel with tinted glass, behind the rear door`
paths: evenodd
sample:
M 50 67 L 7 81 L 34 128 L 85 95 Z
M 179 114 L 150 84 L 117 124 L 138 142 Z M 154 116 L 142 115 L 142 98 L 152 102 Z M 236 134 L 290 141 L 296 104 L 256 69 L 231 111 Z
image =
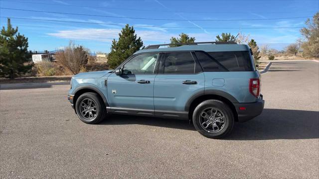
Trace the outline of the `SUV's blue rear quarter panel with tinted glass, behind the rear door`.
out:
M 195 55 L 205 73 L 205 93 L 219 90 L 239 102 L 255 102 L 249 92 L 249 79 L 258 78 L 249 51 L 203 52 Z

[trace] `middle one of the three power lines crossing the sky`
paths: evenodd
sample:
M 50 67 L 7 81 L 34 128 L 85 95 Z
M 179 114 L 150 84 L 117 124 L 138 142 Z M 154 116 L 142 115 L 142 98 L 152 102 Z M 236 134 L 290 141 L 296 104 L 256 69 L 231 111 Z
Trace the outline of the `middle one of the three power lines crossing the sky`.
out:
M 296 19 L 296 18 L 309 18 L 312 16 L 304 17 L 283 17 L 283 18 L 263 18 L 263 19 L 165 19 L 165 18 L 144 18 L 144 17 L 123 17 L 123 16 L 111 16 L 111 15 L 97 15 L 97 14 L 82 14 L 82 13 L 69 13 L 69 12 L 53 12 L 53 11 L 42 11 L 42 10 L 29 10 L 29 9 L 17 9 L 17 8 L 5 8 L 1 9 L 8 10 L 20 10 L 30 12 L 45 12 L 55 14 L 68 14 L 68 15 L 85 15 L 85 16 L 98 16 L 98 17 L 111 17 L 111 18 L 129 18 L 129 19 L 144 19 L 144 20 L 173 20 L 173 21 L 247 21 L 247 20 L 279 20 L 279 19 Z

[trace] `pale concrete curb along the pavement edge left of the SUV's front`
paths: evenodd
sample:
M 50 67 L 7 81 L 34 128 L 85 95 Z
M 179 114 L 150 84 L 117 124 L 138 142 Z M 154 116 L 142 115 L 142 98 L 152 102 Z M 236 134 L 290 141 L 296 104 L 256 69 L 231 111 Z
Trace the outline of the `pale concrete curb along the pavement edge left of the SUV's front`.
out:
M 70 82 L 0 84 L 0 89 L 46 88 L 51 87 L 53 85 L 70 85 Z

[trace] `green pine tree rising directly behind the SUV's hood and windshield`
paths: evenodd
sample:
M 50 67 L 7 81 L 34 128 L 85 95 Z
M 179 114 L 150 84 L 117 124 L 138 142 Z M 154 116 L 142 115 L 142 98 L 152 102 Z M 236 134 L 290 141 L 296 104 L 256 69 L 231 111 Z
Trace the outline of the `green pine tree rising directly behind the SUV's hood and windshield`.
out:
M 111 52 L 108 55 L 108 64 L 110 68 L 116 68 L 124 60 L 133 55 L 136 51 L 143 47 L 141 37 L 137 38 L 135 30 L 126 24 L 119 33 L 119 40 L 113 39 Z

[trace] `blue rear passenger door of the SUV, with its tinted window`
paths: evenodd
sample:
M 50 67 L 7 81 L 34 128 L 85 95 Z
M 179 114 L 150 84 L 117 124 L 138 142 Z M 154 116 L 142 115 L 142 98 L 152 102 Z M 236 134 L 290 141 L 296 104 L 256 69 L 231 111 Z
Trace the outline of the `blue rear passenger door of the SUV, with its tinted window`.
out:
M 155 114 L 160 117 L 187 117 L 189 97 L 204 90 L 204 74 L 191 52 L 166 52 L 154 83 Z

